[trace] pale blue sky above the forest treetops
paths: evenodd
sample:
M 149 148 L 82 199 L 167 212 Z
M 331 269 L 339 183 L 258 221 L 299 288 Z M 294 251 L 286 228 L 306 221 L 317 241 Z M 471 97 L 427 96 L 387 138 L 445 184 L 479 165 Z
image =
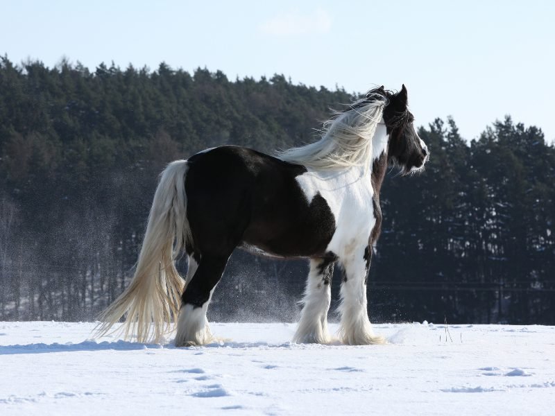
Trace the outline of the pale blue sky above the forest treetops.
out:
M 555 139 L 555 1 L 0 0 L 0 54 L 94 71 L 112 60 L 348 92 L 409 90 L 418 125 L 465 139 L 511 114 Z

